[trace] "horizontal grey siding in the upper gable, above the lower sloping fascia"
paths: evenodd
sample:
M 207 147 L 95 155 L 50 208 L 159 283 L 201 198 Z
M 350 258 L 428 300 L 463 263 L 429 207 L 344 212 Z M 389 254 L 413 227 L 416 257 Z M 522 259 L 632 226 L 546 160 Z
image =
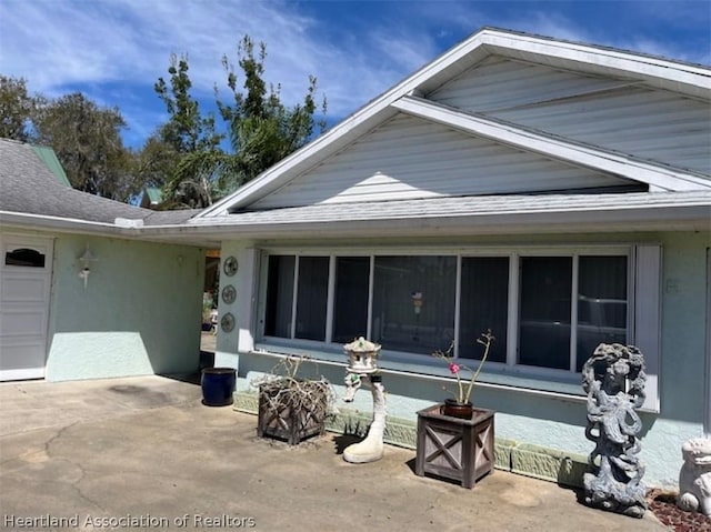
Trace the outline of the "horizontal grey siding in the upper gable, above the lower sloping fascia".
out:
M 708 101 L 495 57 L 428 99 L 711 179 Z

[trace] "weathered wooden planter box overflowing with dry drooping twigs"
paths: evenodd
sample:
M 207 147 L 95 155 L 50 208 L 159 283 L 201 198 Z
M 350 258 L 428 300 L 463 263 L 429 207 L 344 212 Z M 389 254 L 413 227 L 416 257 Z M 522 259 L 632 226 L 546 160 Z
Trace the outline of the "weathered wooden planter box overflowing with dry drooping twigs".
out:
M 257 435 L 296 445 L 323 434 L 329 406 L 329 388 L 322 381 L 303 381 L 299 389 L 269 382 L 259 387 Z M 308 393 L 303 393 L 303 391 Z

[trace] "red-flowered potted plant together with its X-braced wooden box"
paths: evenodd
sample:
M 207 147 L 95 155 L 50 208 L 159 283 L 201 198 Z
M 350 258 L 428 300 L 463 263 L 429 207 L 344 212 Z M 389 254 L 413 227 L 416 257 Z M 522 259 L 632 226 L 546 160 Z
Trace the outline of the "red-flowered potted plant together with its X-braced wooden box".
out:
M 477 371 L 454 361 L 453 345 L 445 352 L 433 353 L 449 365 L 457 378 L 457 393 L 453 399 L 418 412 L 418 475 L 431 473 L 455 480 L 464 488 L 473 488 L 478 480 L 493 471 L 494 412 L 474 408 L 471 403 L 471 392 L 493 341 L 490 330 L 477 339 L 484 348 Z M 468 371 L 471 377 L 464 380 L 462 371 Z

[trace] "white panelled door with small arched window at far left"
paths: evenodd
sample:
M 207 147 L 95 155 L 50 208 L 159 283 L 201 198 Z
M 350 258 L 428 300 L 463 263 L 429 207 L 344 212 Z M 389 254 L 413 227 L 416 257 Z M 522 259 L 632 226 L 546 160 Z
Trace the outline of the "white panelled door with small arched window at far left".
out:
M 52 241 L 0 237 L 0 381 L 41 379 L 52 280 Z

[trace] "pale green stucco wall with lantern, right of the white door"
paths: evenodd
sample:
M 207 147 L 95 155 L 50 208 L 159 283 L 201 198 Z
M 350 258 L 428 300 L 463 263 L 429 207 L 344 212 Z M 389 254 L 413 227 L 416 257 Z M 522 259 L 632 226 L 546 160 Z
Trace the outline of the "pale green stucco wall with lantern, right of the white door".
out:
M 79 257 L 89 244 L 87 288 Z M 58 235 L 47 379 L 196 371 L 204 251 L 121 239 Z

